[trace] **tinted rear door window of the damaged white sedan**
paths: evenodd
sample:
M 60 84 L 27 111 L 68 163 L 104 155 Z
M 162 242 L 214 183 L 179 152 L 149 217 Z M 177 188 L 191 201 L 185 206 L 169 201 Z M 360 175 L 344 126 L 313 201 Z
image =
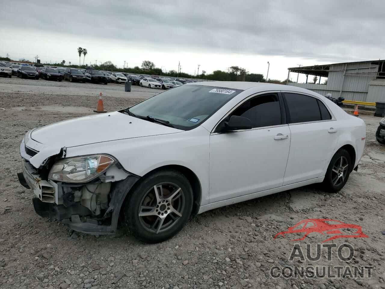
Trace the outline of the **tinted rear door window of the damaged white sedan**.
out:
M 288 123 L 320 121 L 321 112 L 315 97 L 304 94 L 285 93 Z

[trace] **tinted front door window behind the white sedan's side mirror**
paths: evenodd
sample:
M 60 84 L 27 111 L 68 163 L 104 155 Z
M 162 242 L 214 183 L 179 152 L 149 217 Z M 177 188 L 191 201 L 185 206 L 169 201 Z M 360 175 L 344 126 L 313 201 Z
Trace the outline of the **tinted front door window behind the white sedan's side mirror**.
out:
M 278 94 L 263 94 L 241 104 L 231 115 L 251 120 L 253 128 L 281 124 L 281 106 Z

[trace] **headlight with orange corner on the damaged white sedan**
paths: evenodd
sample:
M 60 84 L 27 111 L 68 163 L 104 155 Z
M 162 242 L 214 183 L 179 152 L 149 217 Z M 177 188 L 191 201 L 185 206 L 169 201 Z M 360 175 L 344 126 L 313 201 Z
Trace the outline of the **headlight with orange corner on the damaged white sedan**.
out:
M 67 183 L 86 183 L 100 176 L 114 162 L 106 155 L 65 158 L 52 166 L 48 178 Z

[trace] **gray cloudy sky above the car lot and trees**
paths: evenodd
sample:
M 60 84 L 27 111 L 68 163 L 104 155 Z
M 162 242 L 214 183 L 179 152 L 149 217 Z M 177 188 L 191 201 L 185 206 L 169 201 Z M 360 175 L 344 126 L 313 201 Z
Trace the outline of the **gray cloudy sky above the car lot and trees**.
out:
M 265 76 L 269 61 L 269 78 L 283 80 L 297 64 L 385 58 L 384 10 L 383 0 L 12 0 L 0 10 L 0 55 L 76 64 L 81 46 L 87 63 Z

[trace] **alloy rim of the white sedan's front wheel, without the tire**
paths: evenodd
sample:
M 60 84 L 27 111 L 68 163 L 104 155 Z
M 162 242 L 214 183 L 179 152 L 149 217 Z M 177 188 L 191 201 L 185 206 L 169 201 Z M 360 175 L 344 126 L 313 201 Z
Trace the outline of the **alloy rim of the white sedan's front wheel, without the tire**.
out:
M 181 187 L 171 182 L 158 183 L 144 194 L 138 209 L 139 221 L 144 229 L 158 234 L 173 227 L 184 208 Z

